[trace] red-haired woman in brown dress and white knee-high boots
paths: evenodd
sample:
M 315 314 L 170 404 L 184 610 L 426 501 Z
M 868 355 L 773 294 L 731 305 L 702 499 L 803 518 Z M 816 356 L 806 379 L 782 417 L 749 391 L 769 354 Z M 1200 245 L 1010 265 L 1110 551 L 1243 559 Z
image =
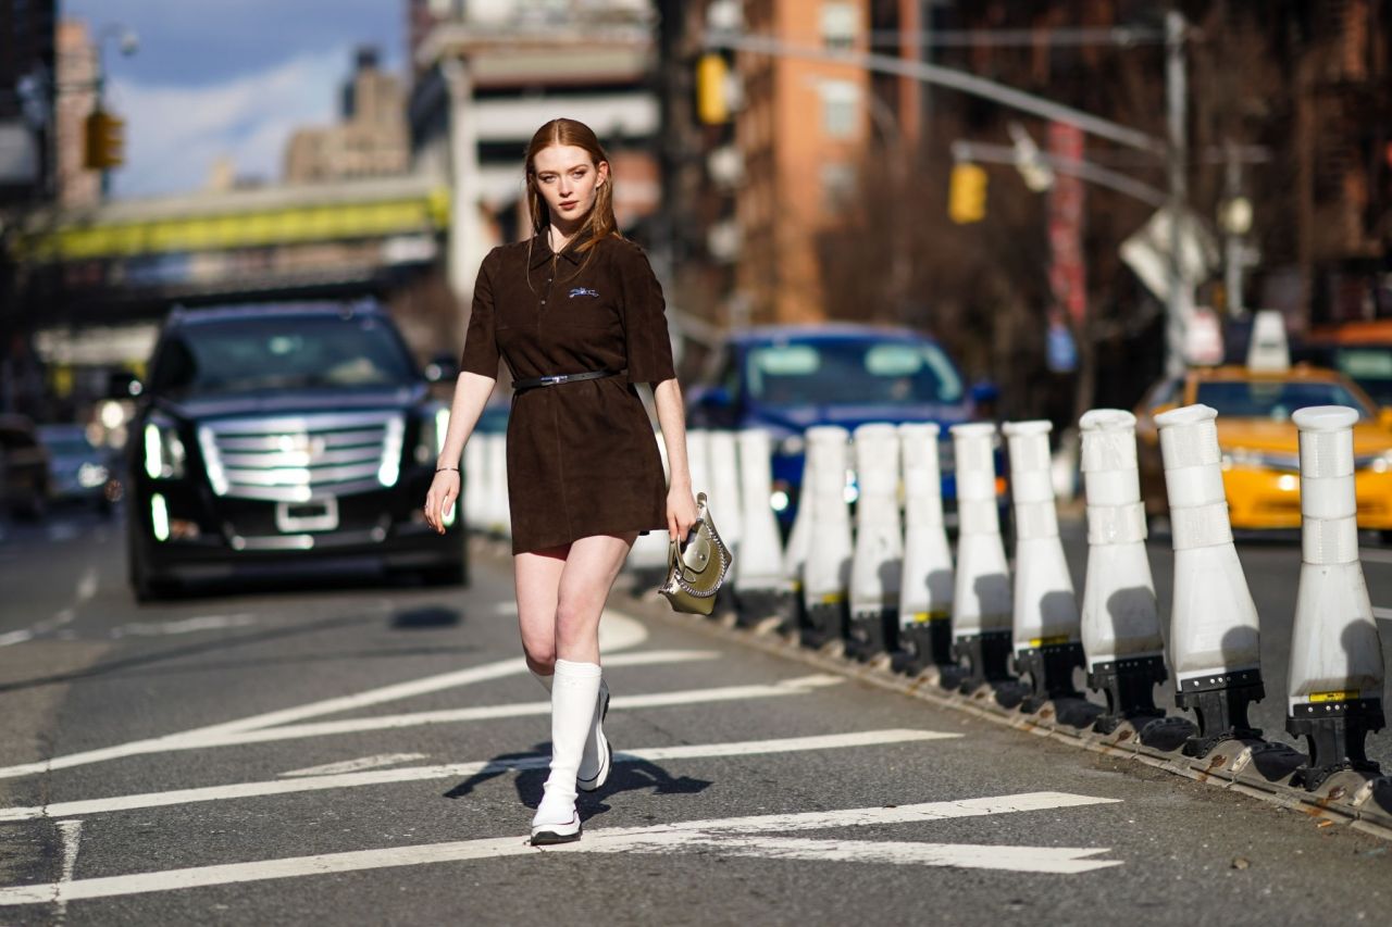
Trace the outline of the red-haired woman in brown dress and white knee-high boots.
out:
M 479 269 L 450 430 L 426 496 L 444 532 L 459 498 L 459 457 L 493 391 L 514 377 L 508 496 L 526 663 L 551 692 L 551 774 L 532 843 L 579 839 L 576 788 L 608 777 L 608 688 L 599 622 L 640 533 L 685 537 L 696 521 L 681 387 L 663 292 L 643 252 L 618 234 L 608 157 L 594 132 L 554 120 L 526 152 L 528 241 Z M 671 484 L 635 383 L 653 384 Z

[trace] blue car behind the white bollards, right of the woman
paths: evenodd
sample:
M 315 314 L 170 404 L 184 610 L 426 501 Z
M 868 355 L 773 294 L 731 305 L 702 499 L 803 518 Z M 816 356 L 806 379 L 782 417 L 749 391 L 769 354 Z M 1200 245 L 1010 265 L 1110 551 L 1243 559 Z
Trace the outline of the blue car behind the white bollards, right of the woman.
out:
M 969 390 L 933 338 L 856 324 L 748 328 L 728 337 L 713 372 L 711 380 L 690 390 L 689 426 L 760 427 L 773 436 L 771 501 L 785 530 L 802 486 L 803 431 L 814 425 L 851 430 L 867 422 L 942 426 L 938 457 L 951 523 L 956 480 L 947 429 L 972 420 L 992 390 Z

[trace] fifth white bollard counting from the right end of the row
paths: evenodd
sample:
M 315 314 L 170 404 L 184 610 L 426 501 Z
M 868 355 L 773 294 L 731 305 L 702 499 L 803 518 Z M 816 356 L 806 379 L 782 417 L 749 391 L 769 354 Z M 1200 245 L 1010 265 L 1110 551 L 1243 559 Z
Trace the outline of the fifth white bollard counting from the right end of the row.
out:
M 995 426 L 954 425 L 958 555 L 952 585 L 952 656 L 966 663 L 962 690 L 1011 678 L 1011 569 L 995 502 Z

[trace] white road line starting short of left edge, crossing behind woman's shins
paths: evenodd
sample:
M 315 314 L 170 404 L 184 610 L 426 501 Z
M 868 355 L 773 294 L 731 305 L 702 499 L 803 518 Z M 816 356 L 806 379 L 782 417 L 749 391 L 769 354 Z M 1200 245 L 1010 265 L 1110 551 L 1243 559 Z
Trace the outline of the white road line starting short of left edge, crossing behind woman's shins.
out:
M 635 654 L 638 656 L 638 654 Z M 775 683 L 725 686 L 718 689 L 689 689 L 686 692 L 661 692 L 642 696 L 615 696 L 610 708 L 665 708 L 671 706 L 700 704 L 707 702 L 742 702 L 745 699 L 770 699 L 802 695 L 812 689 L 823 689 L 845 682 L 845 676 L 813 675 L 798 679 L 784 679 Z M 320 721 L 317 724 L 294 724 L 280 728 L 256 731 L 232 731 L 188 738 L 171 750 L 205 750 L 219 746 L 244 743 L 270 743 L 274 740 L 298 740 L 301 738 L 322 738 L 335 734 L 359 734 L 362 731 L 387 731 L 426 724 L 457 724 L 459 721 L 493 721 L 497 718 L 522 718 L 551 713 L 550 702 L 515 702 L 511 704 L 490 704 L 473 708 L 440 708 L 436 711 L 413 711 L 411 714 L 380 714 L 370 718 L 345 718 L 342 721 Z

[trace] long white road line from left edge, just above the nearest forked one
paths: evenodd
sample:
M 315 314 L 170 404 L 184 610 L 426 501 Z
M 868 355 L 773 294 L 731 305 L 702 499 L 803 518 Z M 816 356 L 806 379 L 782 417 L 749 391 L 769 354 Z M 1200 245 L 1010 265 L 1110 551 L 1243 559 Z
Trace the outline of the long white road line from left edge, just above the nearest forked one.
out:
M 915 740 L 948 740 L 960 734 L 940 734 L 937 731 L 859 731 L 855 734 L 831 734 L 807 738 L 785 738 L 781 740 L 743 740 L 736 743 L 697 743 L 670 747 L 644 747 L 624 750 L 614 754 L 615 763 L 656 763 L 660 760 L 693 760 L 731 756 L 764 756 L 773 753 L 798 753 L 806 750 L 830 750 L 837 747 L 878 746 L 887 743 L 909 743 Z M 0 821 L 32 821 L 40 817 L 70 817 L 77 814 L 103 814 L 106 811 L 128 811 L 138 807 L 167 807 L 171 805 L 192 805 L 196 802 L 226 802 L 231 799 L 259 798 L 263 795 L 290 795 L 292 792 L 322 792 L 324 789 L 347 789 L 363 785 L 386 785 L 393 782 L 425 782 L 477 775 L 480 772 L 508 772 L 515 770 L 544 770 L 550 766 L 547 756 L 528 756 L 515 760 L 484 760 L 476 763 L 450 763 L 444 766 L 409 766 L 397 770 L 367 770 L 363 772 L 341 772 L 337 775 L 315 775 L 296 779 L 267 779 L 263 782 L 238 782 L 234 785 L 213 785 L 171 792 L 146 792 L 143 795 L 117 795 L 104 799 L 78 802 L 53 802 L 36 807 L 0 809 Z

